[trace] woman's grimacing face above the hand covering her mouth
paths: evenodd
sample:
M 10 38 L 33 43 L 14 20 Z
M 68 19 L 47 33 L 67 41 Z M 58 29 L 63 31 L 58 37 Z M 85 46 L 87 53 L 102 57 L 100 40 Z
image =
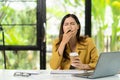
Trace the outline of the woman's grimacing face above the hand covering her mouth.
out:
M 63 24 L 64 33 L 71 30 L 71 31 L 75 31 L 74 35 L 76 35 L 78 29 L 79 29 L 79 25 L 76 23 L 74 18 L 68 17 L 65 19 L 64 24 Z

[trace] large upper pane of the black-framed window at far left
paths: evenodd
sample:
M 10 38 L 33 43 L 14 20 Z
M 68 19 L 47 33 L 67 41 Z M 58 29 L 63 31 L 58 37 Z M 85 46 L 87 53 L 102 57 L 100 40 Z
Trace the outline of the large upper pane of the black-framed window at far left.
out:
M 5 45 L 36 45 L 36 0 L 0 1 Z

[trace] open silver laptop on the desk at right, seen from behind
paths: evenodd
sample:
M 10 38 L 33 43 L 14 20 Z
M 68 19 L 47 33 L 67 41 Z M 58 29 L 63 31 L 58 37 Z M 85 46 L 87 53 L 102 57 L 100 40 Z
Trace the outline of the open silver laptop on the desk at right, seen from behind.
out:
M 120 52 L 104 52 L 99 56 L 94 72 L 85 72 L 80 74 L 73 74 L 77 77 L 85 78 L 100 78 L 112 76 L 120 70 Z

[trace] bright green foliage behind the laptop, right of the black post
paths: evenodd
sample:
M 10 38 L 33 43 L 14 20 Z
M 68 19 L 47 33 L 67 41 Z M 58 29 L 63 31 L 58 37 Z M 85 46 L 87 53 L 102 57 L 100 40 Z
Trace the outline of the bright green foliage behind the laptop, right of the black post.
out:
M 92 0 L 92 36 L 99 52 L 120 50 L 119 0 Z

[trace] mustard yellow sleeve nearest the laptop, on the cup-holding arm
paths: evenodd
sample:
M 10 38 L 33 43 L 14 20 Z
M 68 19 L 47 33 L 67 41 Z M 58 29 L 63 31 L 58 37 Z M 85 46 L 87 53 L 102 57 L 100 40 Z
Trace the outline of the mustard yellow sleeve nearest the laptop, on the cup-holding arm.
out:
M 90 53 L 89 66 L 95 68 L 98 61 L 98 51 L 92 38 L 88 38 L 88 51 Z

